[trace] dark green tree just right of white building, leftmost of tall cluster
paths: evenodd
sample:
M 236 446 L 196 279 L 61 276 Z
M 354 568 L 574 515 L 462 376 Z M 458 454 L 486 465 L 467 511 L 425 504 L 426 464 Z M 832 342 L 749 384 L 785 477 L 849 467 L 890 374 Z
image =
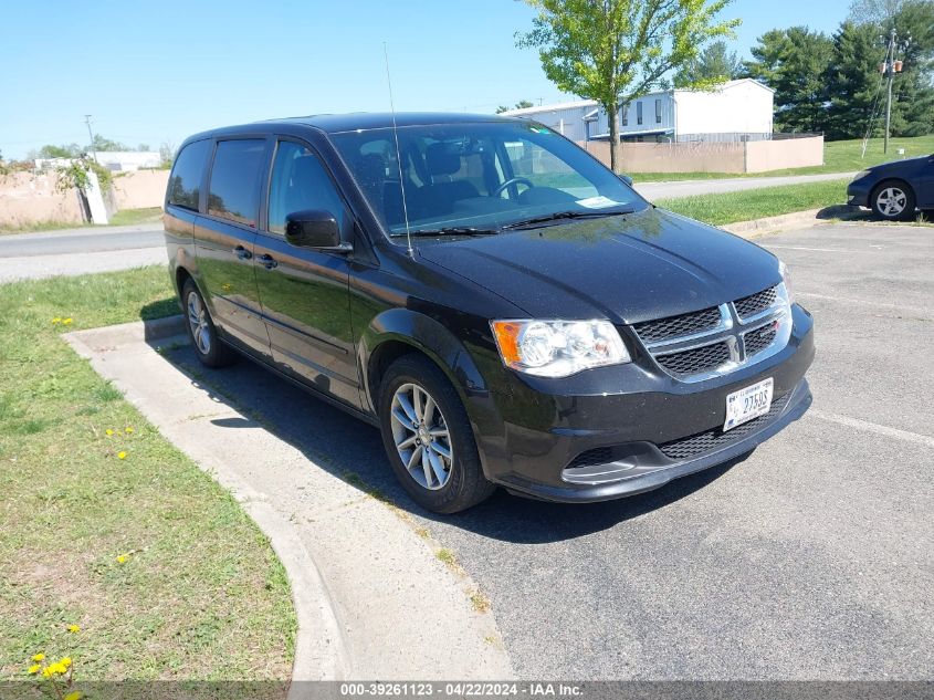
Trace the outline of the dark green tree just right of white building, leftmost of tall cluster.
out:
M 833 41 L 807 27 L 774 29 L 752 49 L 744 74 L 775 91 L 775 126 L 786 132 L 822 132 L 829 100 L 827 74 Z

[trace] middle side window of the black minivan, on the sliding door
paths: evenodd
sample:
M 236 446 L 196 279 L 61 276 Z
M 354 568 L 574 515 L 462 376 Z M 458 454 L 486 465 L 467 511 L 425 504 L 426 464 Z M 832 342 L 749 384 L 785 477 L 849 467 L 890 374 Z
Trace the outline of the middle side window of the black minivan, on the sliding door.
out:
M 218 142 L 208 213 L 256 228 L 265 149 L 266 143 L 261 138 Z

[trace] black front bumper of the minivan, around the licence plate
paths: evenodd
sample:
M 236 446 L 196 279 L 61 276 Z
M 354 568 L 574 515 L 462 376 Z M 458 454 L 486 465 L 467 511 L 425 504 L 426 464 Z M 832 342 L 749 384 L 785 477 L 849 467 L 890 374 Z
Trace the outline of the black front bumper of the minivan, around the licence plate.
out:
M 672 379 L 644 357 L 562 382 L 512 375 L 510 391 L 493 397 L 501 429 L 491 430 L 487 417 L 486 429 L 475 431 L 486 477 L 532 498 L 605 501 L 753 450 L 811 403 L 804 376 L 815 354 L 814 324 L 797 305 L 793 321 L 778 354 L 696 384 Z M 774 410 L 723 433 L 726 396 L 767 377 Z

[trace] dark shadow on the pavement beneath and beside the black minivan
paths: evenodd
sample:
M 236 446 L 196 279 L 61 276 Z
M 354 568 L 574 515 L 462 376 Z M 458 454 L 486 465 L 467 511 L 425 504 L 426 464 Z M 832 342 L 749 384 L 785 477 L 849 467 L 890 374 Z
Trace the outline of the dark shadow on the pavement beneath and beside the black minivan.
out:
M 230 428 L 262 425 L 298 449 L 314 464 L 361 490 L 376 491 L 398 508 L 427 520 L 443 521 L 480 535 L 515 543 L 544 543 L 580 537 L 662 509 L 703 489 L 747 456 L 655 491 L 618 501 L 563 504 L 534 501 L 497 491 L 489 501 L 455 515 L 437 515 L 413 503 L 386 461 L 379 431 L 327 405 L 301 388 L 241 358 L 225 369 L 200 365 L 190 346 L 168 348 L 164 356 L 192 382 L 216 391 L 252 419 L 218 419 Z

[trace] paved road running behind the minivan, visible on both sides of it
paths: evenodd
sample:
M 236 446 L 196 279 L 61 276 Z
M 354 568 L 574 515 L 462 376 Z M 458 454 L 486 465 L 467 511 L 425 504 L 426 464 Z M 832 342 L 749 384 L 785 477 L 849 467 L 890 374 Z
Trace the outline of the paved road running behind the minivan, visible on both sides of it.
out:
M 637 185 L 639 192 L 649 199 L 664 199 L 730 192 L 775 185 L 814 182 L 847 177 L 848 174 L 797 175 L 787 177 L 728 178 L 721 180 L 689 180 L 681 182 L 646 182 Z M 843 192 L 840 192 L 841 201 Z M 139 264 L 165 262 L 157 252 L 164 245 L 161 223 L 143 223 L 105 229 L 70 229 L 43 233 L 20 233 L 0 237 L 0 259 L 4 271 L 0 282 L 20 278 L 51 276 L 53 274 L 83 274 L 122 270 Z M 137 251 L 126 255 L 123 251 Z M 146 252 L 143 252 L 143 251 Z M 107 252 L 111 254 L 106 254 Z M 91 255 L 88 253 L 99 253 Z M 71 260 L 63 255 L 78 255 Z M 25 260 L 34 258 L 34 260 Z M 13 260 L 9 260 L 13 259 Z

